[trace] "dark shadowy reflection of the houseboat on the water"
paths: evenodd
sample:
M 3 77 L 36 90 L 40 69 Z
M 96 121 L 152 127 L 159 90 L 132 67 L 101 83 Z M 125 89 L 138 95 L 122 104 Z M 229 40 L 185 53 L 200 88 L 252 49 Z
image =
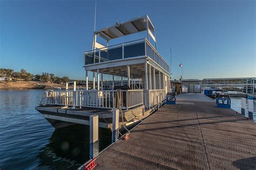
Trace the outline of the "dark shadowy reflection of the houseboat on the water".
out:
M 89 160 L 89 126 L 76 125 L 55 130 L 49 144 L 41 148 L 38 168 L 75 169 Z M 100 151 L 111 144 L 111 131 L 99 128 Z

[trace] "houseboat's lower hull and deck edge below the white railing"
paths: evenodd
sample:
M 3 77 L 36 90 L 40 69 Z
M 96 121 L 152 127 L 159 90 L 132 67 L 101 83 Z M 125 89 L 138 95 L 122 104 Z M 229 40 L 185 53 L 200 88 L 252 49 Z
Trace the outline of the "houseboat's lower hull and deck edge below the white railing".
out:
M 110 108 L 97 107 L 65 107 L 56 105 L 44 105 L 36 107 L 43 117 L 55 128 L 68 127 L 76 124 L 90 125 L 90 116 L 98 115 L 99 127 L 112 128 L 113 110 Z M 124 110 L 119 113 L 119 127 L 123 125 L 130 125 L 146 118 L 155 110 L 145 109 L 143 106 Z M 123 114 L 123 119 L 122 119 Z

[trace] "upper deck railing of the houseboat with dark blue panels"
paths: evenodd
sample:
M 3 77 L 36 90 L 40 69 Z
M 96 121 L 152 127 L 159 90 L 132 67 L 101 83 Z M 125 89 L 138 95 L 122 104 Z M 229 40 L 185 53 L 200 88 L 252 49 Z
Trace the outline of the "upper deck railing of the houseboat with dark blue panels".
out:
M 161 66 L 165 71 L 170 73 L 170 66 L 146 38 L 86 51 L 84 52 L 84 56 L 85 66 L 111 60 L 147 56 L 154 60 L 154 62 Z

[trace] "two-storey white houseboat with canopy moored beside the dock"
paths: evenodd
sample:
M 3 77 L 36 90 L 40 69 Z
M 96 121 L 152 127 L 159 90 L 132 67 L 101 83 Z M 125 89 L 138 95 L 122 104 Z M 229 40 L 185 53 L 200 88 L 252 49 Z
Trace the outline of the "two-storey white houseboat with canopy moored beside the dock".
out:
M 143 31 L 143 39 L 109 45 L 112 39 Z M 99 38 L 105 44 L 98 43 Z M 36 107 L 53 127 L 89 125 L 90 115 L 98 115 L 99 127 L 111 129 L 116 110 L 119 127 L 131 125 L 154 112 L 170 91 L 170 66 L 157 51 L 147 15 L 95 31 L 92 50 L 84 52 L 84 69 L 85 89 L 66 83 L 64 90 L 46 91 Z

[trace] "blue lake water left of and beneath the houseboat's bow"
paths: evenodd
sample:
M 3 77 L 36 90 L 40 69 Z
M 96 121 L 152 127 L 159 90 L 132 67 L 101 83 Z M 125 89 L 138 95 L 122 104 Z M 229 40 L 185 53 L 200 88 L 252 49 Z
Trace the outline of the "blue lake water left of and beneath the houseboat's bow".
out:
M 55 130 L 35 110 L 44 90 L 0 90 L 0 169 L 77 169 L 89 159 L 89 127 Z M 99 129 L 99 148 L 111 132 Z

